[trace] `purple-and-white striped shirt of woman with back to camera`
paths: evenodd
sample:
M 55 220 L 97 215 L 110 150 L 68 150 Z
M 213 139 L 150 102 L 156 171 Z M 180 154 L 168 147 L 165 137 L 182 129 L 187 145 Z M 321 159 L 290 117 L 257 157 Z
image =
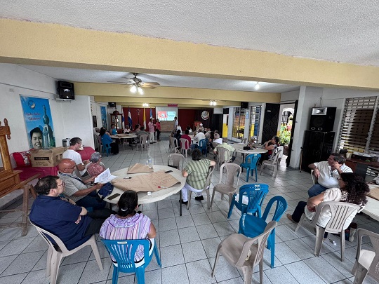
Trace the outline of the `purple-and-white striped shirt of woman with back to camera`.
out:
M 128 218 L 120 218 L 112 214 L 102 223 L 99 234 L 106 240 L 147 239 L 151 222 L 150 218 L 142 213 L 136 213 L 134 216 Z M 139 245 L 135 252 L 134 261 L 138 262 L 143 257 L 143 246 Z M 112 259 L 115 260 L 113 257 Z

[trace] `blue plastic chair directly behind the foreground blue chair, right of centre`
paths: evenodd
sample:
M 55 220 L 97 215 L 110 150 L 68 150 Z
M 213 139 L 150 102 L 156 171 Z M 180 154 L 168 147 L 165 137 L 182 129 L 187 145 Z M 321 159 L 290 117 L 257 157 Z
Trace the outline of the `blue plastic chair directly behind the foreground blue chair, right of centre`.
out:
M 227 217 L 230 218 L 234 205 L 241 210 L 241 214 L 251 213 L 258 214 L 260 217 L 263 199 L 268 193 L 268 184 L 245 184 L 239 188 L 239 198 L 236 201 L 237 194 L 232 197 L 232 204 L 230 204 L 229 213 Z M 243 197 L 248 198 L 247 203 L 243 203 Z

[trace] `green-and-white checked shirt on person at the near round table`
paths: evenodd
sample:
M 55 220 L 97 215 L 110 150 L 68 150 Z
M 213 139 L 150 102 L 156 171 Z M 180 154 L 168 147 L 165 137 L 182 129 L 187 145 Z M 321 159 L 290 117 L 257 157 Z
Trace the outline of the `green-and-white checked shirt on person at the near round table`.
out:
M 187 184 L 194 189 L 204 189 L 211 161 L 203 158 L 200 161 L 190 161 L 185 167 L 188 173 Z

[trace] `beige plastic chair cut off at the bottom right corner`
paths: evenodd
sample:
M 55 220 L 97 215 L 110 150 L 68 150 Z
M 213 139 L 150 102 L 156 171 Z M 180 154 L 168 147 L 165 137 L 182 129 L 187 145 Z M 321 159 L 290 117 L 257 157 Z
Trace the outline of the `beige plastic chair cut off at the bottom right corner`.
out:
M 357 257 L 355 257 L 356 260 L 352 269 L 352 274 L 355 276 L 354 284 L 363 283 L 367 274 L 379 281 L 379 234 L 375 234 L 366 229 L 358 229 L 357 234 Z M 363 236 L 370 238 L 374 251 L 361 250 Z

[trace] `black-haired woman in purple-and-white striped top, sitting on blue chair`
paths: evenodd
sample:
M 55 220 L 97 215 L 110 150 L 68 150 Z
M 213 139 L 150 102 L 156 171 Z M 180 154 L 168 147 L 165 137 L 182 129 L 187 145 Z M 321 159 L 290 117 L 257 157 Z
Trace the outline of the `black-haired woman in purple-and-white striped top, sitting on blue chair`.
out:
M 100 236 L 107 240 L 147 239 L 150 241 L 149 255 L 151 255 L 154 250 L 154 238 L 157 232 L 149 217 L 135 212 L 138 208 L 137 193 L 133 190 L 125 191 L 117 205 L 119 206 L 117 215 L 111 215 L 105 220 L 100 229 Z M 140 246 L 135 252 L 135 263 L 142 262 L 143 257 L 143 247 Z M 112 262 L 115 262 L 112 255 L 111 259 Z

